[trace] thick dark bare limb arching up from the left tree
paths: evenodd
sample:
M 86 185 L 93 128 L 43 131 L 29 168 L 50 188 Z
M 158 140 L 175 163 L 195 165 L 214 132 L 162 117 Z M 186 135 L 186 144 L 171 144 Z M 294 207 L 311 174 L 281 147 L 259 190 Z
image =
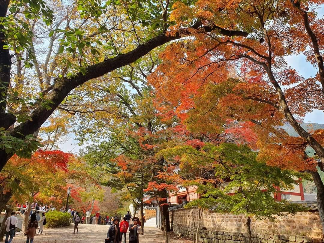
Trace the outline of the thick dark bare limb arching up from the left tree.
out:
M 8 0 L 1 2 L 1 6 L 4 5 L 4 3 L 9 2 Z M 6 6 L 7 9 L 7 6 Z M 6 11 L 2 11 L 1 13 L 4 12 L 4 16 L 6 15 Z M 0 13 L 0 14 L 1 14 Z M 208 27 L 200 27 L 202 25 L 202 22 L 197 21 L 192 28 L 198 29 L 202 28 L 203 31 L 212 31 L 212 30 L 218 30 L 220 34 L 227 35 L 227 36 L 244 36 L 246 37 L 248 35 L 247 32 L 244 31 L 238 31 L 238 30 L 227 30 L 227 29 L 222 29 L 217 26 Z M 137 59 L 140 57 L 146 55 L 148 52 L 153 50 L 154 48 L 163 45 L 169 41 L 172 40 L 177 40 L 180 39 L 182 36 L 188 36 L 190 35 L 190 32 L 188 31 L 182 31 L 176 33 L 174 36 L 167 35 L 166 33 L 162 33 L 149 41 L 145 42 L 144 44 L 141 44 L 137 46 L 134 50 L 124 53 L 124 54 L 119 54 L 116 57 L 110 58 L 110 59 L 105 59 L 104 61 L 93 64 L 91 66 L 88 66 L 85 68 L 85 72 L 79 72 L 75 75 L 73 75 L 71 78 L 63 77 L 59 78 L 56 77 L 54 80 L 54 85 L 51 89 L 51 91 L 48 93 L 48 95 L 45 97 L 46 100 L 48 101 L 47 104 L 50 106 L 50 109 L 48 107 L 44 106 L 42 104 L 42 101 L 40 101 L 40 104 L 31 112 L 30 114 L 30 119 L 28 121 L 25 121 L 21 124 L 19 124 L 17 127 L 15 127 L 10 135 L 17 137 L 17 138 L 24 138 L 24 136 L 33 134 L 36 132 L 37 129 L 41 127 L 41 125 L 47 120 L 47 118 L 54 112 L 54 110 L 61 104 L 61 102 L 64 100 L 64 98 L 75 88 L 83 83 L 87 82 L 90 79 L 100 77 L 104 74 L 107 74 L 117 68 L 120 68 L 122 66 L 125 66 L 127 64 L 131 64 L 135 62 Z M 0 36 L 1 37 L 1 36 Z M 0 51 L 1 51 L 1 46 L 0 46 Z M 9 54 L 9 52 L 6 52 Z M 8 64 L 8 60 L 6 57 L 10 58 L 10 55 L 4 55 L 0 57 L 0 68 L 1 68 L 1 62 L 6 61 Z M 2 59 L 3 58 L 3 59 Z M 10 61 L 10 60 L 9 60 Z M 3 69 L 8 72 L 7 69 Z M 8 75 L 2 75 L 6 82 L 5 84 L 9 85 L 7 81 L 9 80 Z M 0 97 L 0 100 L 6 100 L 6 97 Z M 4 104 L 4 103 L 1 103 Z M 1 114 L 0 114 L 1 117 Z M 1 118 L 0 118 L 1 121 Z M 6 165 L 7 161 L 13 154 L 7 154 L 5 150 L 0 150 L 0 171 L 3 169 L 3 167 Z

